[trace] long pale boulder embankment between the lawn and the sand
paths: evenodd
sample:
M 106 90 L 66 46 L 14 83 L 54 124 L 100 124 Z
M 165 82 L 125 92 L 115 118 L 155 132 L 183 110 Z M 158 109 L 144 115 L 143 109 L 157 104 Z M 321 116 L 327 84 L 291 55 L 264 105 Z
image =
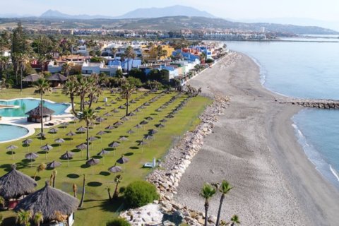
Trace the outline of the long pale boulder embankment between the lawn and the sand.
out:
M 154 184 L 160 194 L 159 201 L 155 201 L 155 203 L 160 206 L 162 213 L 166 213 L 165 215 L 175 213 L 180 215 L 183 221 L 189 225 L 203 224 L 203 213 L 190 210 L 180 203 L 174 202 L 173 195 L 177 194 L 177 187 L 182 174 L 189 167 L 194 155 L 203 147 L 203 139 L 212 133 L 218 115 L 224 112 L 224 109 L 229 105 L 228 102 L 228 97 L 215 95 L 213 103 L 201 114 L 201 123 L 196 126 L 196 129 L 186 132 L 182 140 L 169 150 L 160 166 L 148 175 L 148 182 Z M 151 209 L 154 209 L 153 205 Z M 145 214 L 142 214 L 143 212 L 148 213 L 147 218 L 143 217 L 145 216 Z M 147 207 L 146 210 L 136 209 L 121 213 L 121 217 L 129 220 L 131 225 L 158 225 L 161 223 L 158 215 L 158 211 L 147 210 Z M 209 217 L 211 225 L 215 223 L 215 219 L 214 216 Z M 157 220 L 158 222 L 156 222 Z

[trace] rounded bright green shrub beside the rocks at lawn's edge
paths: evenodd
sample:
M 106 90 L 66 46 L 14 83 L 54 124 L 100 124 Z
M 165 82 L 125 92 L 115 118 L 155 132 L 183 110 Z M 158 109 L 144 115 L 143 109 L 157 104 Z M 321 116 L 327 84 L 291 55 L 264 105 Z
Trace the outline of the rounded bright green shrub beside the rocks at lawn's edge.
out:
M 159 196 L 153 184 L 136 181 L 126 187 L 124 198 L 127 206 L 136 208 L 152 203 L 155 199 L 158 199 Z

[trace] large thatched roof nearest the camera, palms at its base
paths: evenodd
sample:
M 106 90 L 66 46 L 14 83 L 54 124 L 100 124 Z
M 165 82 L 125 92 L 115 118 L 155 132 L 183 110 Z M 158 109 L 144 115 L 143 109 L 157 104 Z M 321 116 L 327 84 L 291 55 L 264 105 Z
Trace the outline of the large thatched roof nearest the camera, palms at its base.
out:
M 57 213 L 71 215 L 78 209 L 78 204 L 77 198 L 66 194 L 64 191 L 52 188 L 46 182 L 42 189 L 23 198 L 14 210 L 31 210 L 33 215 L 41 212 L 44 221 L 52 221 L 57 220 Z

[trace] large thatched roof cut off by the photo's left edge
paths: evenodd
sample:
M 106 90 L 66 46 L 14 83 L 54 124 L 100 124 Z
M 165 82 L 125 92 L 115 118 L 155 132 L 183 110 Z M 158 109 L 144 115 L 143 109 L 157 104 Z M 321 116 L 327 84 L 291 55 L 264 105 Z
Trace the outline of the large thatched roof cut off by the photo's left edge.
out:
M 0 196 L 6 200 L 19 198 L 34 192 L 36 186 L 34 179 L 16 170 L 16 165 L 13 165 L 10 172 L 0 177 Z

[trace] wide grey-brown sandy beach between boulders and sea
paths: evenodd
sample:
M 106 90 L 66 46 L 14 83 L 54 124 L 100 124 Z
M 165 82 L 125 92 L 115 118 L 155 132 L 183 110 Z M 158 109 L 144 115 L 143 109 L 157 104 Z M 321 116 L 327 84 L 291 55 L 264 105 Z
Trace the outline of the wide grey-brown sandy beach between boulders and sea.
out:
M 174 200 L 203 211 L 203 183 L 226 179 L 234 189 L 222 219 L 237 214 L 242 225 L 339 225 L 339 192 L 307 159 L 292 128 L 301 108 L 275 102 L 283 97 L 263 88 L 258 66 L 241 57 L 189 82 L 203 95 L 229 96 L 230 106 L 186 169 Z M 210 201 L 212 215 L 219 197 Z

